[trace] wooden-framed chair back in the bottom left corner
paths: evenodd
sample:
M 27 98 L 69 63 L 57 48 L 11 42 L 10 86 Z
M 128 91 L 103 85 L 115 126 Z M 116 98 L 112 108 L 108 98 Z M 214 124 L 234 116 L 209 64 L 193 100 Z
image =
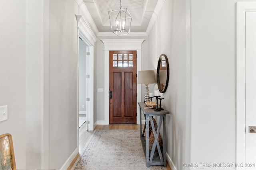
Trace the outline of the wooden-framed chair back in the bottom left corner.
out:
M 0 169 L 16 170 L 12 135 L 0 135 Z

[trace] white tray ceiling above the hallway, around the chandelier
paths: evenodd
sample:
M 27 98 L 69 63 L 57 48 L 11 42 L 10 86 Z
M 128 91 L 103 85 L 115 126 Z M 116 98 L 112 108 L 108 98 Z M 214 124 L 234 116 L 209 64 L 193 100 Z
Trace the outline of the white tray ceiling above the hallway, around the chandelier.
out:
M 83 0 L 99 32 L 111 32 L 108 11 L 120 9 L 120 0 Z M 122 8 L 132 15 L 131 32 L 146 32 L 158 1 L 122 0 Z M 151 21 L 152 22 L 152 21 Z

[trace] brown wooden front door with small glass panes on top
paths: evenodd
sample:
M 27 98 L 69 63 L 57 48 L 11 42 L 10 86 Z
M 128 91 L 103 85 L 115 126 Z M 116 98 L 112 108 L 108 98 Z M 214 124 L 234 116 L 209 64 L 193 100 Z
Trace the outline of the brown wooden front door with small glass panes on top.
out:
M 109 51 L 109 123 L 136 124 L 136 51 Z

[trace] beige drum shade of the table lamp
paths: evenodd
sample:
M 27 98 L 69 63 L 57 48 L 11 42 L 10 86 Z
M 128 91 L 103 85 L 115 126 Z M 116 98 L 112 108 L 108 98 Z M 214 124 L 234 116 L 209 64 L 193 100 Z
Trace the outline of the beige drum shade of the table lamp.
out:
M 156 83 L 154 70 L 138 71 L 138 84 L 154 84 Z

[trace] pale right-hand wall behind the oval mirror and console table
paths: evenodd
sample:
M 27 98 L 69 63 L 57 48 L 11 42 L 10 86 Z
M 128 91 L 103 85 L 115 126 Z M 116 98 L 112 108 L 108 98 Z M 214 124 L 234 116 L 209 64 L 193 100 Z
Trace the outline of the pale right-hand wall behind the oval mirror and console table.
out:
M 162 107 L 166 116 L 168 163 L 172 170 L 184 169 L 186 141 L 186 3 L 166 0 L 148 36 L 151 69 L 166 54 L 170 77 Z M 145 59 L 142 59 L 142 61 Z M 157 87 L 156 87 L 157 88 Z M 152 89 L 153 90 L 153 89 Z

